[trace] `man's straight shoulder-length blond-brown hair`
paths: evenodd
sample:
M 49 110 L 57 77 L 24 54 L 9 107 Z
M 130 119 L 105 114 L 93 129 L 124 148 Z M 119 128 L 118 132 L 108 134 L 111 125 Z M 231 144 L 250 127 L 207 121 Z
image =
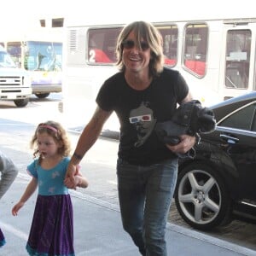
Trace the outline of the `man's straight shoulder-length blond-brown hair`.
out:
M 135 34 L 135 44 L 139 49 L 142 49 L 140 43 L 142 39 L 148 43 L 151 52 L 149 73 L 152 77 L 157 76 L 164 68 L 165 57 L 163 54 L 163 40 L 157 28 L 146 21 L 134 21 L 131 24 L 126 25 L 119 33 L 119 38 L 116 45 L 116 64 L 119 67 L 119 70 L 122 72 L 125 71 L 125 65 L 122 60 L 124 49 L 123 42 L 131 32 L 134 32 Z

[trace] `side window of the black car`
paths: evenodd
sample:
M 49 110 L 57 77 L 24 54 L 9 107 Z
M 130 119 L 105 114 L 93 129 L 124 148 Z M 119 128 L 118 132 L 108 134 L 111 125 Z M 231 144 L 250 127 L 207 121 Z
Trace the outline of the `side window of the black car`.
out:
M 235 129 L 256 131 L 256 103 L 241 108 L 224 119 L 218 126 L 232 127 Z

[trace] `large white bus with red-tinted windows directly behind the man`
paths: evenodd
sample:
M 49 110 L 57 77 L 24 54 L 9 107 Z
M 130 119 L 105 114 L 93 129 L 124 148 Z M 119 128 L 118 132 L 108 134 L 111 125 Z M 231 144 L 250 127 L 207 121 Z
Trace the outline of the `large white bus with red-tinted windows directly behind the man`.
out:
M 218 12 L 212 11 L 210 3 L 198 6 L 194 12 L 195 6 L 188 6 L 191 12 L 186 14 L 170 14 L 172 4 L 166 2 L 166 8 L 161 9 L 159 15 L 147 9 L 155 15 L 148 19 L 139 12 L 132 20 L 147 20 L 159 29 L 166 67 L 182 73 L 194 98 L 209 106 L 256 90 L 256 18 L 253 6 L 246 2 L 232 4 L 229 9 L 222 6 Z M 181 9 L 184 10 L 184 6 Z M 127 7 L 127 14 L 131 14 L 130 11 Z M 115 44 L 119 32 L 132 20 L 125 14 L 108 15 L 98 21 L 83 15 L 67 18 L 63 48 L 66 70 L 60 109 L 69 118 L 74 118 L 79 109 L 85 122 L 84 114 L 91 114 L 96 107 L 100 86 L 118 72 Z M 79 121 L 74 119 L 72 124 Z M 109 124 L 109 130 L 119 130 L 117 121 L 110 122 L 114 125 Z

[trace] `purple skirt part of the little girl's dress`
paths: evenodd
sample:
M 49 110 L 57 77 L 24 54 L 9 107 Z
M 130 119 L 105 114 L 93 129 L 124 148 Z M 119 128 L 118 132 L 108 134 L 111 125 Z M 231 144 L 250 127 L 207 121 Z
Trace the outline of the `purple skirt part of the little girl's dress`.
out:
M 38 195 L 26 250 L 29 255 L 75 255 L 70 195 Z

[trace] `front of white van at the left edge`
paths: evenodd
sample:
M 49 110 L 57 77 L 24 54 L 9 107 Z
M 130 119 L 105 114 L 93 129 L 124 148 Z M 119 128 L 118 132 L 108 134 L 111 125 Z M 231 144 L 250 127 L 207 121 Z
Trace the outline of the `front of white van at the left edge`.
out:
M 31 95 L 29 74 L 16 67 L 10 55 L 0 45 L 0 100 L 14 101 L 17 107 L 25 107 Z

